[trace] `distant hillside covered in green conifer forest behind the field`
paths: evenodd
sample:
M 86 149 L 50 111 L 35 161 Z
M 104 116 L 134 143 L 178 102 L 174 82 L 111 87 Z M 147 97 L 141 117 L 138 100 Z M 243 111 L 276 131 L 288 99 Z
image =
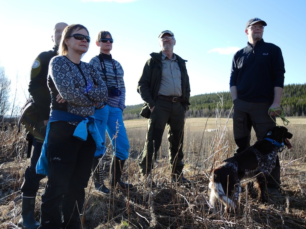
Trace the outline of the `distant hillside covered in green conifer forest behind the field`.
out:
M 227 117 L 233 105 L 230 92 L 218 92 L 191 96 L 187 117 L 215 116 L 216 108 L 222 117 Z M 127 106 L 123 111 L 123 118 L 136 119 L 143 104 Z M 281 107 L 285 116 L 306 116 L 306 84 L 285 85 Z

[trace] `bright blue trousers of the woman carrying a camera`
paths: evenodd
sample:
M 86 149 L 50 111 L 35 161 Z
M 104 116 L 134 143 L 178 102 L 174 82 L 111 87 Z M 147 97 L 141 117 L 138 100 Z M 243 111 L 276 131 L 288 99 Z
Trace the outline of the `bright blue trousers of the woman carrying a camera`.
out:
M 111 107 L 106 104 L 102 109 L 95 110 L 95 123 L 99 129 L 103 142 L 105 142 L 105 130 L 113 145 L 114 155 L 120 160 L 129 157 L 129 140 L 125 131 L 122 110 L 118 107 Z M 118 122 L 118 124 L 117 124 Z M 117 133 L 118 132 L 118 133 Z M 117 138 L 114 136 L 117 133 Z M 105 146 L 105 145 L 104 145 Z M 105 154 L 106 148 L 95 151 L 95 157 Z

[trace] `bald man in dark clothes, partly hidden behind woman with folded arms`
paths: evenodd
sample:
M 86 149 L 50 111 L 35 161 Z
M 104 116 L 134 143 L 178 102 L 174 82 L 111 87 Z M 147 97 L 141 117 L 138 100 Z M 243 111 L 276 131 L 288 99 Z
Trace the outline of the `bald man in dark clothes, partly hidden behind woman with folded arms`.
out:
M 54 34 L 51 36 L 52 42 L 54 42 L 53 49 L 40 53 L 34 60 L 31 68 L 28 91 L 38 110 L 39 123 L 34 127 L 30 165 L 25 170 L 24 181 L 21 185 L 22 211 L 18 226 L 24 229 L 39 227 L 39 222 L 34 218 L 35 198 L 39 189 L 39 181 L 45 176 L 36 173 L 36 164 L 46 136 L 46 127 L 50 114 L 51 96 L 47 85 L 48 67 L 51 58 L 57 56 L 62 32 L 67 25 L 64 22 L 55 24 Z

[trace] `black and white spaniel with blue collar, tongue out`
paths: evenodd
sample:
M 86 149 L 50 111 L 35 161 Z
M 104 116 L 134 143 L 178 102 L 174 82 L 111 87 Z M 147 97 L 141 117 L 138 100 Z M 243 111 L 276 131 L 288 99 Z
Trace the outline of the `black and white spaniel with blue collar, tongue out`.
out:
M 226 208 L 236 208 L 241 193 L 241 182 L 251 179 L 257 189 L 259 200 L 265 199 L 265 178 L 274 169 L 276 156 L 285 146 L 292 146 L 288 139 L 292 134 L 283 126 L 276 126 L 267 133 L 263 140 L 257 141 L 240 154 L 224 160 L 212 172 L 209 188 L 211 189 L 210 203 L 215 207 L 220 201 Z M 257 176 L 256 176 L 257 175 Z

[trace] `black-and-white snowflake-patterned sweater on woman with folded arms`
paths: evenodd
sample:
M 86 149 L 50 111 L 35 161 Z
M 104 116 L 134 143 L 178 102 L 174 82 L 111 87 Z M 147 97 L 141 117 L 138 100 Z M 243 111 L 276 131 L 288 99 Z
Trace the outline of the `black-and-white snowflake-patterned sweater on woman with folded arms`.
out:
M 95 88 L 94 84 L 98 85 L 98 88 Z M 68 111 L 87 117 L 94 114 L 95 103 L 99 102 L 98 106 L 102 106 L 107 100 L 107 88 L 98 70 L 93 65 L 82 61 L 80 64 L 75 64 L 66 56 L 55 56 L 51 59 L 48 86 L 51 91 L 51 109 L 53 110 Z M 59 104 L 56 101 L 58 92 L 66 100 L 65 103 Z M 76 123 L 71 124 L 76 125 Z

